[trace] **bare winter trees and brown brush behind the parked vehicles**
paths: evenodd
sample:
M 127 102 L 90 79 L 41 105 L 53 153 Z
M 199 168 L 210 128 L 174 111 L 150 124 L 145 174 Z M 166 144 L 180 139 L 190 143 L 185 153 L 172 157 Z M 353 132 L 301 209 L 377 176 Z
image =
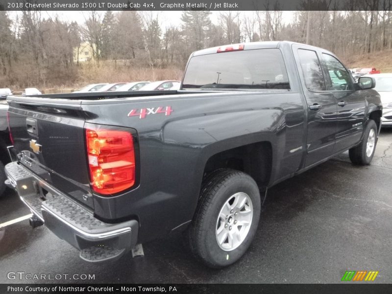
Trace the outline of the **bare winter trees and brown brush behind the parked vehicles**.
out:
M 392 0 L 350 3 L 352 10 L 301 10 L 291 19 L 277 4 L 253 12 L 221 11 L 214 21 L 209 11 L 183 11 L 180 25 L 165 25 L 162 13 L 148 11 L 91 11 L 83 23 L 41 11 L 22 11 L 16 18 L 0 11 L 0 88 L 73 83 L 84 66 L 74 62 L 73 49 L 82 42 L 95 45 L 96 66 L 110 61 L 120 69 L 183 69 L 195 50 L 249 41 L 308 43 L 342 58 L 391 49 Z M 302 5 L 312 9 L 312 0 Z

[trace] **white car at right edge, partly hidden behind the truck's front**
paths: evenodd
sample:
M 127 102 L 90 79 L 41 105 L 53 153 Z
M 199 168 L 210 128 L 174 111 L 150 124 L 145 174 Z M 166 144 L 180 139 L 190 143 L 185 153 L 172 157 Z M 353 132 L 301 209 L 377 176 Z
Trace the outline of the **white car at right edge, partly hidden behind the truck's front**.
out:
M 392 73 L 374 73 L 365 76 L 374 77 L 376 90 L 381 96 L 383 103 L 382 126 L 392 126 Z

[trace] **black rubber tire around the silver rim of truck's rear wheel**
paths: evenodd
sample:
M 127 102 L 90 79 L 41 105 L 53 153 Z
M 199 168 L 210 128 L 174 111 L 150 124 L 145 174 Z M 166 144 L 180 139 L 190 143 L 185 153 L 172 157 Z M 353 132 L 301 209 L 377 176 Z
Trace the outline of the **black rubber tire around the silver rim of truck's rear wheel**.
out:
M 238 241 L 239 245 L 237 247 L 225 251 L 217 241 L 216 230 L 220 226 L 218 222 L 221 223 L 218 216 L 226 201 L 232 200 L 238 193 L 245 198 L 248 196 L 244 203 L 247 208 L 253 208 L 252 219 L 249 220 L 250 226 L 247 234 L 244 234 L 242 242 Z M 251 200 L 251 206 L 249 206 L 249 199 Z M 194 255 L 210 268 L 222 268 L 239 260 L 246 252 L 256 233 L 260 219 L 260 202 L 260 192 L 256 182 L 244 172 L 221 169 L 207 176 L 202 185 L 195 216 L 187 231 L 188 242 Z M 229 217 L 231 221 L 229 224 L 233 224 L 236 218 L 240 216 L 239 213 L 241 212 L 237 211 L 236 217 L 234 217 L 233 210 L 230 211 L 232 219 Z M 233 225 L 231 233 L 235 233 L 235 230 L 240 232 L 241 229 L 242 226 L 238 228 Z

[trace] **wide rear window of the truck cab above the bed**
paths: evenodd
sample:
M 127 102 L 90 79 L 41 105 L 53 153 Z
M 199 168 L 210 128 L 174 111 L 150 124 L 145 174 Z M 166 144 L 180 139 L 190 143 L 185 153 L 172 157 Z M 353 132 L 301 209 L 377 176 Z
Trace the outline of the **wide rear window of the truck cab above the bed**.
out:
M 222 52 L 192 57 L 183 89 L 290 89 L 279 49 Z

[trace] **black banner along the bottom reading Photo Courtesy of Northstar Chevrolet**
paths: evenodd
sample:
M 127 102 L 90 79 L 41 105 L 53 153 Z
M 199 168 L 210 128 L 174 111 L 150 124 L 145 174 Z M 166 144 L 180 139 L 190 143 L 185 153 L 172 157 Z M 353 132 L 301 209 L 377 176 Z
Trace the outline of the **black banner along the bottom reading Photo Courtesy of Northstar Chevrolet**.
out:
M 1 284 L 0 293 L 14 294 L 358 294 L 392 293 L 386 284 Z

